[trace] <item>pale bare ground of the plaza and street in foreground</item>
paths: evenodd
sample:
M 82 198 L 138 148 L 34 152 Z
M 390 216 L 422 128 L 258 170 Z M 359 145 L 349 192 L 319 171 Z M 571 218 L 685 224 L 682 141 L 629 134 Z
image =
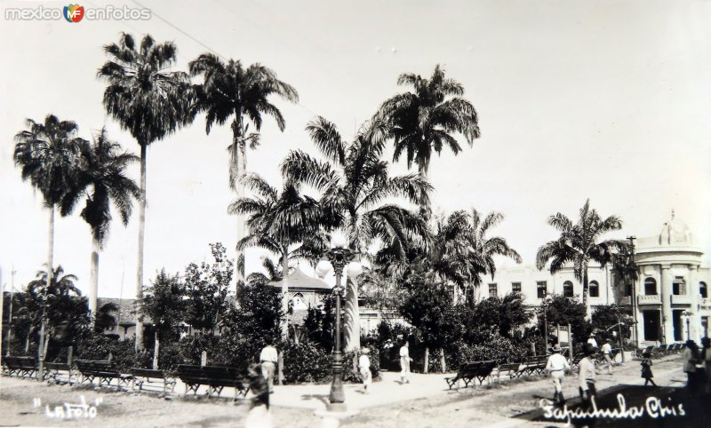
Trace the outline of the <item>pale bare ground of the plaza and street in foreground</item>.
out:
M 598 390 L 603 403 L 615 400 L 618 392 L 629 395 L 629 400 L 643 400 L 650 394 L 674 400 L 687 400 L 679 395 L 685 382 L 681 358 L 669 356 L 655 361 L 653 367 L 659 389 L 638 388 L 643 384 L 639 376 L 639 363 L 628 361 L 615 368 L 613 376 L 604 369 L 598 376 Z M 359 392 L 360 386 L 346 384 L 346 398 L 350 415 L 334 420 L 324 418 L 328 400 L 328 384 L 303 384 L 276 386 L 272 395 L 272 417 L 275 426 L 318 427 L 485 427 L 509 428 L 518 426 L 564 426 L 548 421 L 540 410 L 541 399 L 552 397 L 553 387 L 546 377 L 503 381 L 501 384 L 448 390 L 446 375 L 412 375 L 410 384 L 400 384 L 397 373 L 386 372 L 383 379 L 371 385 L 371 393 Z M 577 396 L 577 378 L 568 377 L 564 384 L 566 397 Z M 176 392 L 183 392 L 178 385 Z M 610 392 L 605 394 L 605 392 Z M 101 399 L 97 416 L 93 419 L 57 420 L 47 417 L 44 406 L 61 406 L 64 402 L 79 403 L 81 397 L 88 403 Z M 0 379 L 0 426 L 116 426 L 116 427 L 234 427 L 244 424 L 249 409 L 248 401 L 232 404 L 229 393 L 224 400 L 206 400 L 204 397 L 163 400 L 156 395 L 131 392 L 113 392 L 107 388 L 99 391 L 86 386 L 40 384 L 29 380 L 2 377 Z M 248 396 L 249 398 L 249 396 Z M 35 407 L 35 399 L 42 405 Z M 668 400 L 668 399 L 667 399 Z M 570 400 L 571 408 L 576 400 Z M 691 410 L 693 406 L 689 405 Z M 696 407 L 696 411 L 711 410 Z M 649 422 L 649 421 L 648 421 Z M 657 424 L 657 423 L 663 424 Z M 690 426 L 693 420 L 671 418 L 641 425 L 631 421 L 615 421 L 601 426 Z M 701 425 L 699 425 L 701 426 Z

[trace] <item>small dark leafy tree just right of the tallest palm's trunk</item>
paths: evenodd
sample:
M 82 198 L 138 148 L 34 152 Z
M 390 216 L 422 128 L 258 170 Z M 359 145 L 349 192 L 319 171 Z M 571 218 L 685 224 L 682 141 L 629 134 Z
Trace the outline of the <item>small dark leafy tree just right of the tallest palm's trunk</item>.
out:
M 146 289 L 140 302 L 140 312 L 153 321 L 155 342 L 153 369 L 158 369 L 160 345 L 176 341 L 180 337 L 180 323 L 186 319 L 187 289 L 178 275 L 169 275 L 161 270 L 153 284 Z

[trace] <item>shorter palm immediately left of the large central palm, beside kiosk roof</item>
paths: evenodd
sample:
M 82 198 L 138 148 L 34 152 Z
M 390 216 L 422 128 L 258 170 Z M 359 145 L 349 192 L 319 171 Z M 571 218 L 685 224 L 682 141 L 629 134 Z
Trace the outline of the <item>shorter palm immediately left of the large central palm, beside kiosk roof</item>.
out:
M 309 240 L 316 233 L 321 210 L 318 202 L 308 196 L 302 196 L 299 187 L 293 182 L 286 182 L 280 194 L 274 186 L 257 174 L 247 174 L 242 179 L 256 195 L 254 198 L 242 197 L 230 203 L 230 214 L 248 215 L 247 226 L 250 234 L 237 242 L 237 250 L 247 247 L 259 247 L 280 255 L 282 276 L 289 275 L 289 247 Z M 289 287 L 282 281 L 282 300 L 284 313 L 289 308 Z M 286 338 L 289 326 L 283 323 L 282 334 Z

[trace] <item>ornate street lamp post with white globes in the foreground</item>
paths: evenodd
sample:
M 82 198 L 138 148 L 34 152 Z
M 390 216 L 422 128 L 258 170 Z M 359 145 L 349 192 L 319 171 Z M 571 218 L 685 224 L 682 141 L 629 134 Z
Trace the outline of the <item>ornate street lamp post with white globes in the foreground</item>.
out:
M 336 276 L 336 286 L 333 288 L 333 294 L 336 297 L 336 331 L 333 350 L 332 362 L 332 381 L 331 393 L 328 396 L 329 411 L 345 412 L 346 411 L 346 394 L 343 392 L 343 353 L 341 352 L 340 336 L 340 299 L 343 297 L 343 286 L 341 281 L 343 278 L 343 268 L 356 257 L 356 253 L 349 250 L 345 237 L 334 235 L 331 242 L 331 250 L 325 257 L 327 260 L 321 260 L 316 266 L 316 273 L 319 276 L 324 276 L 333 267 L 333 273 Z

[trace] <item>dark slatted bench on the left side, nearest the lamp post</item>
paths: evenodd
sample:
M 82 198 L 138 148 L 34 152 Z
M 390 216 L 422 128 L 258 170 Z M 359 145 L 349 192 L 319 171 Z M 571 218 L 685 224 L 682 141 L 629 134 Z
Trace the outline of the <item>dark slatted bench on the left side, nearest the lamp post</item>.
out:
M 217 392 L 220 397 L 222 389 L 225 387 L 235 388 L 235 398 L 239 395 L 244 398 L 249 392 L 249 385 L 244 384 L 244 376 L 239 373 L 234 367 L 220 366 L 191 366 L 180 364 L 176 368 L 175 375 L 180 377 L 180 380 L 185 384 L 185 394 L 193 391 L 197 395 L 197 389 L 201 386 L 207 386 L 207 397 L 210 398 L 212 392 Z

